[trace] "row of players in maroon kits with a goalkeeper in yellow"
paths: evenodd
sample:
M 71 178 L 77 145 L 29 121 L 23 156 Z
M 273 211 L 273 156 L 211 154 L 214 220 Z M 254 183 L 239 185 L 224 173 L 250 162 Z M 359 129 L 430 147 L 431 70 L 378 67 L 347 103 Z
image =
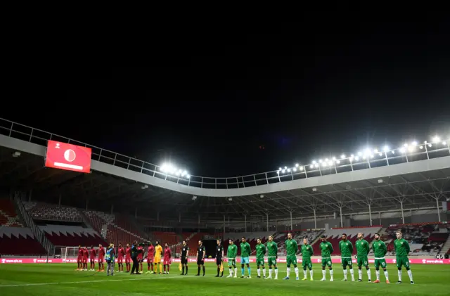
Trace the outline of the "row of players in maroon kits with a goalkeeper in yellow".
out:
M 186 242 L 184 242 L 186 243 Z M 139 245 L 136 247 L 138 250 L 137 255 L 137 261 L 138 261 L 138 274 L 143 273 L 143 259 L 144 257 L 147 257 L 147 274 L 157 274 L 158 273 L 158 266 L 160 269 L 160 274 L 163 274 L 162 272 L 162 265 L 164 265 L 164 274 L 169 274 L 170 265 L 172 264 L 172 251 L 169 248 L 169 245 L 167 243 L 165 244 L 165 250 L 163 253 L 162 247 L 160 246 L 160 243 L 158 240 L 155 241 L 155 246 L 153 243 L 149 243 L 148 250 L 146 256 L 144 256 L 143 252 L 143 245 Z M 98 251 L 94 248 L 94 246 L 91 246 L 91 250 L 88 250 L 86 246 L 82 247 L 81 245 L 78 246 L 78 257 L 77 257 L 77 271 L 87 271 L 87 262 L 88 257 L 90 261 L 90 269 L 89 271 L 95 271 L 95 259 L 98 255 L 98 272 L 105 271 L 105 248 L 100 244 L 98 245 Z M 163 258 L 161 260 L 161 258 Z M 122 247 L 122 244 L 119 245 L 117 249 L 117 266 L 118 271 L 117 272 L 124 272 L 124 265 L 123 262 L 125 262 L 125 266 L 127 268 L 126 272 L 131 271 L 131 247 L 129 244 L 124 248 Z M 163 263 L 163 264 L 161 264 Z M 187 271 L 187 267 L 186 267 Z

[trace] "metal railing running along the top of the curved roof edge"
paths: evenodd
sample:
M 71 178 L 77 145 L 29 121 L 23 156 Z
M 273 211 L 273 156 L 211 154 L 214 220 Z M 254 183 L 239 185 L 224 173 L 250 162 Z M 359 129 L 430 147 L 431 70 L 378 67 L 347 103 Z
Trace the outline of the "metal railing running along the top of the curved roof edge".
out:
M 360 169 L 372 169 L 374 167 L 385 167 L 405 162 L 418 160 L 429 160 L 436 157 L 450 155 L 450 139 L 432 141 L 428 143 L 414 143 L 408 147 L 376 151 L 371 150 L 361 155 L 353 155 L 339 158 L 325 159 L 308 165 L 298 165 L 281 168 L 279 171 L 264 172 L 246 176 L 229 178 L 209 178 L 205 176 L 176 176 L 162 172 L 159 165 L 138 160 L 134 157 L 115 153 L 110 150 L 98 148 L 86 143 L 75 141 L 65 136 L 51 134 L 48 131 L 34 129 L 24 124 L 4 120 L 0 118 L 0 134 L 11 136 L 16 139 L 37 143 L 46 146 L 48 140 L 70 143 L 77 146 L 92 149 L 92 159 L 109 165 L 122 167 L 134 172 L 140 172 L 159 179 L 165 179 L 177 184 L 210 189 L 231 189 L 266 184 L 293 181 L 296 179 L 308 179 L 328 174 L 339 174 L 342 172 L 353 172 Z

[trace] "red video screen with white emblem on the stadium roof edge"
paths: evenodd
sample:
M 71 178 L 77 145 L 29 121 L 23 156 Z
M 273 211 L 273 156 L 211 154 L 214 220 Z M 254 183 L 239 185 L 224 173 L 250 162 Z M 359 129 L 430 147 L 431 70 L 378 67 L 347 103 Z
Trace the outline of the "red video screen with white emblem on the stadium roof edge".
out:
M 91 172 L 91 148 L 49 140 L 46 167 L 75 172 Z

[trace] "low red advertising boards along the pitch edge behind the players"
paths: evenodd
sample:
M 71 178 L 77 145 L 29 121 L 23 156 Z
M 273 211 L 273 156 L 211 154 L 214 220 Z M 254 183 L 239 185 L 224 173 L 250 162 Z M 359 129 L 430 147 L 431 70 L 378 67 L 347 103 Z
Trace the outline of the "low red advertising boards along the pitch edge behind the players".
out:
M 238 262 L 240 262 L 239 257 L 236 258 Z M 98 260 L 96 259 L 96 262 Z M 117 261 L 117 259 L 116 259 Z M 226 259 L 224 259 L 224 261 L 226 262 Z M 250 262 L 251 263 L 255 263 L 256 259 L 255 258 L 250 258 Z M 267 258 L 265 258 L 265 261 L 267 262 Z M 313 263 L 320 263 L 321 259 L 311 259 L 311 261 Z M 356 263 L 356 259 L 352 260 L 353 263 Z M 144 262 L 146 262 L 146 259 L 144 260 Z M 180 262 L 180 259 L 172 259 L 172 262 Z M 189 258 L 188 262 L 197 262 L 196 259 L 193 258 Z M 205 259 L 205 262 L 216 262 L 216 259 Z M 282 259 L 277 259 L 276 262 L 278 263 L 286 263 L 286 259 L 282 258 Z M 297 259 L 297 262 L 301 263 L 302 259 Z M 332 259 L 333 263 L 341 263 L 340 259 Z M 373 263 L 374 259 L 369 259 L 368 260 L 369 263 Z M 396 263 L 396 259 L 389 259 L 386 258 L 386 262 L 388 264 L 395 264 Z M 77 263 L 77 259 L 54 259 L 51 258 L 49 259 L 49 261 L 47 262 L 46 259 L 42 259 L 42 258 L 2 258 L 0 259 L 0 264 L 33 264 L 33 263 Z M 411 264 L 450 264 L 450 259 L 415 259 L 415 258 L 410 258 L 409 259 L 409 263 Z

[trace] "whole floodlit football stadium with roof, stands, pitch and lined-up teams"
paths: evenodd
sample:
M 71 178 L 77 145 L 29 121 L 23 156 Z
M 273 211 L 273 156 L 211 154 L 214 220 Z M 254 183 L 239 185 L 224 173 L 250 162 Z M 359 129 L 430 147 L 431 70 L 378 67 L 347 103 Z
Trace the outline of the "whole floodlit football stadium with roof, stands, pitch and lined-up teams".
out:
M 0 122 L 1 295 L 449 295 L 449 136 L 208 178 Z

